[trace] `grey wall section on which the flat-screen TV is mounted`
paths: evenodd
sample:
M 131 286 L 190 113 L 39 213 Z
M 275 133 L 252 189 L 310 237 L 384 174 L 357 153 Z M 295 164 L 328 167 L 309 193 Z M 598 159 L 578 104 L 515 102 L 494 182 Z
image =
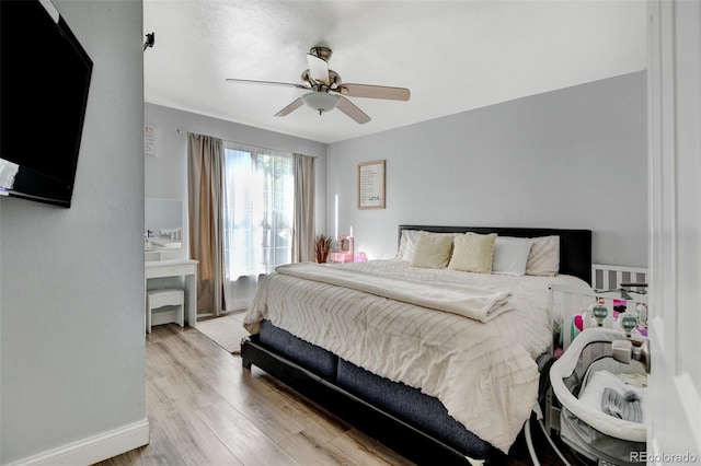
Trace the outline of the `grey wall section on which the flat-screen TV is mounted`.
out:
M 0 464 L 135 426 L 148 439 L 142 4 L 54 3 L 94 68 L 72 207 L 0 199 Z M 27 144 L 50 150 L 41 136 Z

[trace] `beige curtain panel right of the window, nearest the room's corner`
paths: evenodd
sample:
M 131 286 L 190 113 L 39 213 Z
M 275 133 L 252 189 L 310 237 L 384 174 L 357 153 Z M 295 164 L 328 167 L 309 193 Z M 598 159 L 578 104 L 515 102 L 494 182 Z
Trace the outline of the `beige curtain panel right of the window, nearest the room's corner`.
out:
M 315 260 L 314 158 L 292 154 L 295 161 L 295 221 L 292 263 Z

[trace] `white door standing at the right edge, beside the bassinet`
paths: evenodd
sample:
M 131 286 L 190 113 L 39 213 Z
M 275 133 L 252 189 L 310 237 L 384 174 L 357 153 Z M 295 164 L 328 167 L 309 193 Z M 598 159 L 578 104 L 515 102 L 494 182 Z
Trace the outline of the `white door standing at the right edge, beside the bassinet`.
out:
M 652 464 L 701 463 L 701 2 L 648 2 Z M 642 458 L 641 458 L 642 459 Z

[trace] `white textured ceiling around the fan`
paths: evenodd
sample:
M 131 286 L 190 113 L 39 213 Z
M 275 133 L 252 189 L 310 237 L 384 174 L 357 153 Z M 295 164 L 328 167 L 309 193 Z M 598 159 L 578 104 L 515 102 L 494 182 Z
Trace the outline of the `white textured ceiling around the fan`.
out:
M 644 0 L 143 0 L 145 100 L 319 142 L 640 71 Z M 409 102 L 349 97 L 372 119 L 302 106 L 306 54 L 333 50 L 343 82 L 409 88 Z

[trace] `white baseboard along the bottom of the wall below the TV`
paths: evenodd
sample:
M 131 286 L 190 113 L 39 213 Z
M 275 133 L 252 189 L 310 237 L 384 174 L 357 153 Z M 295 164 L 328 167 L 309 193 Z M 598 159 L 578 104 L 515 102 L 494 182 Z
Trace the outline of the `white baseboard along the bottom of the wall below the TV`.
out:
M 100 435 L 49 450 L 8 466 L 91 465 L 149 443 L 149 420 L 143 419 Z

